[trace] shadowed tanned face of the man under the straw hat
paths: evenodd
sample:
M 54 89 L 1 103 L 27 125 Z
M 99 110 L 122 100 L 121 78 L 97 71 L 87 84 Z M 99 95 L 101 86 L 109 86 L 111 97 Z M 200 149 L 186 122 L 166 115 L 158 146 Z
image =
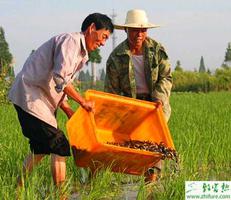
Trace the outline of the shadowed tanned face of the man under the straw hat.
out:
M 128 42 L 130 48 L 141 49 L 144 40 L 147 37 L 146 28 L 128 28 L 127 29 Z

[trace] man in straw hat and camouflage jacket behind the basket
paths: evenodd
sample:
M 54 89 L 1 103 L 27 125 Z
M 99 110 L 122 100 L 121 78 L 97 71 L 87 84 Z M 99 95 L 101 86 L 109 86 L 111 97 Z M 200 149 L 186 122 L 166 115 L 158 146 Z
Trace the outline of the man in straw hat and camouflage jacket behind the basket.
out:
M 158 102 L 163 106 L 166 121 L 171 108 L 169 96 L 172 75 L 164 47 L 147 36 L 147 29 L 159 25 L 148 21 L 143 10 L 130 10 L 124 25 L 114 24 L 115 29 L 125 30 L 127 39 L 111 53 L 106 64 L 105 91 L 118 95 Z M 156 180 L 161 162 L 145 173 L 146 181 Z

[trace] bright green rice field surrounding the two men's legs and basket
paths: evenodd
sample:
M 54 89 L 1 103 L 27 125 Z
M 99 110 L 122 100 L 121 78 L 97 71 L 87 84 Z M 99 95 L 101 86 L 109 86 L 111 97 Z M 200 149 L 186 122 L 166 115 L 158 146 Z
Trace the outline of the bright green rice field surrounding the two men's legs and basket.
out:
M 169 129 L 180 156 L 178 170 L 165 161 L 161 179 L 145 185 L 144 178 L 100 171 L 91 180 L 88 170 L 67 159 L 67 180 L 54 187 L 50 159 L 45 158 L 28 176 L 25 186 L 16 189 L 25 155 L 29 152 L 12 105 L 0 105 L 0 199 L 184 199 L 185 181 L 231 180 L 231 93 L 173 93 Z M 65 130 L 67 118 L 58 114 Z

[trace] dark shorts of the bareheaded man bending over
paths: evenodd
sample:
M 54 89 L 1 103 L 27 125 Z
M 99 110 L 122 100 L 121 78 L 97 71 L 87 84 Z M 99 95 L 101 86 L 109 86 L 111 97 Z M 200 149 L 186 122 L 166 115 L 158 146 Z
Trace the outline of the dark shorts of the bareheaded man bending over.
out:
M 23 135 L 29 139 L 30 149 L 34 154 L 70 156 L 69 142 L 61 130 L 25 112 L 17 105 L 14 107 Z

